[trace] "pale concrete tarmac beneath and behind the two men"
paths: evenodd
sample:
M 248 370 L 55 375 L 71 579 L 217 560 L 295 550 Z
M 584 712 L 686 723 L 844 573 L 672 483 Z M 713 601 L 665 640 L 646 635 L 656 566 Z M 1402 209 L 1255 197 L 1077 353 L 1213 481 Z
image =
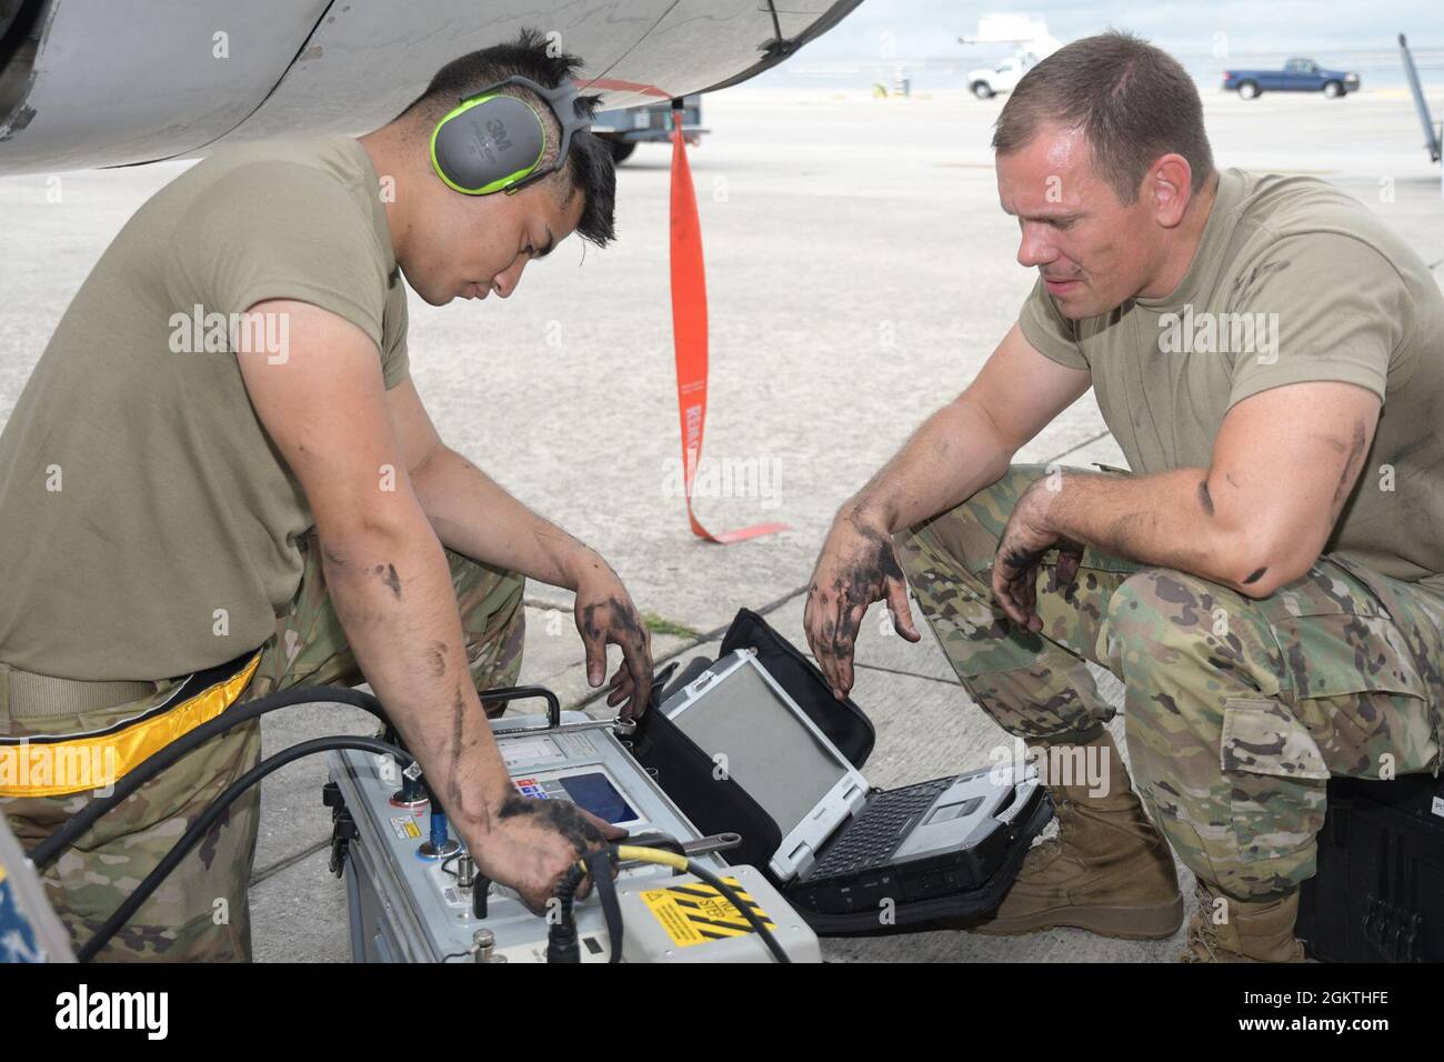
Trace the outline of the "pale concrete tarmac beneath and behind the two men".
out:
M 1220 166 L 1333 181 L 1440 272 L 1440 168 L 1402 92 L 1245 103 L 1210 90 L 1204 105 Z M 1432 105 L 1444 113 L 1444 100 Z M 999 107 L 745 85 L 705 101 L 713 131 L 692 166 L 708 257 L 702 471 L 712 478 L 695 504 L 712 530 L 781 520 L 790 530 L 780 535 L 713 546 L 687 529 L 667 147 L 643 146 L 621 169 L 614 247 L 562 244 L 507 301 L 432 308 L 412 296 L 412 371 L 442 436 L 611 561 L 653 614 L 660 659 L 715 657 L 739 607 L 767 611 L 804 646 L 801 588 L 832 514 L 1017 319 L 1034 275 L 1014 260 L 1017 223 L 998 207 L 988 137 Z M 185 165 L 0 179 L 0 419 L 110 238 Z M 1015 459 L 1123 464 L 1092 394 Z M 589 691 L 569 598 L 529 588 L 523 681 L 572 707 Z M 871 614 L 858 656 L 855 699 L 878 727 L 866 767 L 877 785 L 983 766 L 1006 744 L 931 637 L 908 644 Z M 1116 681 L 1100 679 L 1118 702 Z M 364 728 L 347 709 L 316 707 L 270 717 L 266 747 Z M 251 889 L 258 959 L 348 958 L 344 890 L 325 873 L 323 776 L 313 760 L 264 785 Z M 1158 961 L 1177 948 L 1056 931 L 830 941 L 825 951 L 838 961 Z

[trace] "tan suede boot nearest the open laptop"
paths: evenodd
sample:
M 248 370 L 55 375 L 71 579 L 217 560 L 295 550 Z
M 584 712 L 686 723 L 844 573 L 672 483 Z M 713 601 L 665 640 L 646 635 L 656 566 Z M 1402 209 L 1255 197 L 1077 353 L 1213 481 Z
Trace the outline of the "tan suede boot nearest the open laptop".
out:
M 1171 936 L 1183 923 L 1173 852 L 1144 813 L 1113 738 L 1103 731 L 1073 747 L 1106 756 L 1106 793 L 1092 793 L 1090 785 L 1050 785 L 1057 837 L 1028 852 L 991 918 L 953 923 L 957 928 L 1011 935 L 1074 926 L 1103 936 L 1154 939 Z M 1087 756 L 1087 763 L 1097 763 L 1099 753 Z

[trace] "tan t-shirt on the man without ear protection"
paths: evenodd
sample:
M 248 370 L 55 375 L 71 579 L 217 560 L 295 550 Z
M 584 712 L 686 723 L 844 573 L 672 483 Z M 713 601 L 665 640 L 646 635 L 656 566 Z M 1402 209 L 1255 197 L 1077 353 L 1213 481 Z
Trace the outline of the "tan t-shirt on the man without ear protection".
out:
M 1444 590 L 1444 295 L 1346 192 L 1225 170 L 1171 295 L 1069 321 L 1040 279 L 1019 325 L 1045 357 L 1092 373 L 1142 474 L 1207 468 L 1223 415 L 1251 394 L 1313 380 L 1367 387 L 1385 405 L 1324 552 Z

